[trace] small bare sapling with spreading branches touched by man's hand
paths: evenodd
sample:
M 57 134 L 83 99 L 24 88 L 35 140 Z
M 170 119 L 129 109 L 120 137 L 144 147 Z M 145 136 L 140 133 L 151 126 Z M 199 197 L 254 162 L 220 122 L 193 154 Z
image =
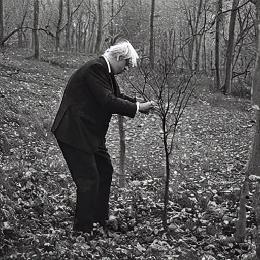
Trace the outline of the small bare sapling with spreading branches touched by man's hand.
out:
M 165 34 L 164 34 L 165 35 Z M 164 212 L 163 227 L 168 230 L 167 215 L 169 204 L 169 183 L 170 183 L 170 156 L 174 150 L 174 140 L 177 133 L 177 126 L 184 110 L 188 107 L 188 102 L 196 85 L 194 73 L 187 71 L 185 73 L 174 74 L 174 67 L 177 67 L 177 59 L 180 57 L 182 49 L 187 44 L 183 44 L 178 55 L 172 55 L 176 47 L 175 33 L 167 34 L 170 37 L 159 37 L 159 45 L 163 46 L 164 51 L 161 53 L 160 60 L 151 66 L 149 61 L 144 60 L 140 68 L 142 81 L 136 86 L 131 79 L 133 88 L 144 100 L 155 100 L 158 104 L 156 114 L 160 120 L 161 141 L 165 153 L 165 192 L 164 192 Z M 171 44 L 170 44 L 171 43 Z M 143 83 L 143 84 L 141 84 Z M 141 86 L 142 85 L 142 86 Z M 141 86 L 141 87 L 140 87 Z

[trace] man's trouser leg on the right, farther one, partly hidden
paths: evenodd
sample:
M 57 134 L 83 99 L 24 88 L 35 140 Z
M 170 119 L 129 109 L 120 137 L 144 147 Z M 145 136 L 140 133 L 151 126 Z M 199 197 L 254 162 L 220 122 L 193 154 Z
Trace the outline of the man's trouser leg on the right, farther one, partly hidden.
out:
M 96 197 L 94 221 L 103 224 L 109 217 L 109 194 L 113 174 L 113 166 L 105 146 L 105 140 L 94 154 L 94 158 L 99 171 L 99 189 Z

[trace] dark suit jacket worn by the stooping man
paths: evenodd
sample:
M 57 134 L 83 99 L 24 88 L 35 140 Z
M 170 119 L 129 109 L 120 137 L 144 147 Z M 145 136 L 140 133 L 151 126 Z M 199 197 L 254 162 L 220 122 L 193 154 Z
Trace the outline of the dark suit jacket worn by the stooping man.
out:
M 92 154 L 104 140 L 112 114 L 134 118 L 136 110 L 134 100 L 120 93 L 105 59 L 98 57 L 70 77 L 51 132 L 58 140 Z

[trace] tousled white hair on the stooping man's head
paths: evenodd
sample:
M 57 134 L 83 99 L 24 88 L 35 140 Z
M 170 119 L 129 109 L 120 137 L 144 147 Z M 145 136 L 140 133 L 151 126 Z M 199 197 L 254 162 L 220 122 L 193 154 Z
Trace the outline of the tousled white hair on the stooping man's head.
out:
M 137 59 L 139 56 L 134 47 L 127 40 L 110 46 L 105 53 L 117 61 L 119 61 L 120 58 L 130 59 L 132 66 L 137 66 Z

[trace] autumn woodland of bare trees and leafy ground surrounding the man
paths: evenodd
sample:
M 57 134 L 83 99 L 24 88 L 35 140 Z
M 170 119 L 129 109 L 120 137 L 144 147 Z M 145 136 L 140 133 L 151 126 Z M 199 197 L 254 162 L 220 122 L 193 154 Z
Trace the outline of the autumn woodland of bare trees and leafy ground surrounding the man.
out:
M 157 107 L 113 115 L 116 218 L 87 239 L 50 127 L 116 35 L 121 90 Z M 260 0 L 0 0 L 0 259 L 259 260 L 259 181 Z

